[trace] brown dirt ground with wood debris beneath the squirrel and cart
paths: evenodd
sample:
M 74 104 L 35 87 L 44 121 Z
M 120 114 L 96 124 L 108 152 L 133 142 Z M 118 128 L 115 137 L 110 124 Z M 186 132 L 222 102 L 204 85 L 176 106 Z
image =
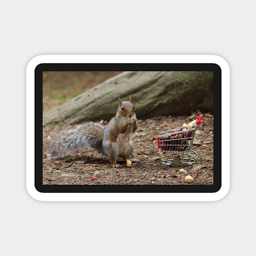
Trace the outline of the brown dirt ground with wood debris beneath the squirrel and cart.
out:
M 104 72 L 102 72 L 104 73 Z M 51 74 L 52 75 L 52 74 Z M 52 75 L 56 78 L 56 76 Z M 106 76 L 103 76 L 105 79 Z M 63 76 L 62 76 L 63 79 Z M 107 78 L 106 78 L 107 79 Z M 48 80 L 48 84 L 50 80 Z M 45 94 L 46 95 L 46 94 Z M 46 95 L 46 102 L 48 102 Z M 68 97 L 67 97 L 68 98 Z M 46 104 L 56 106 L 56 104 Z M 136 107 L 136 102 L 134 102 Z M 115 113 L 113 113 L 113 116 Z M 160 132 L 176 128 L 202 115 L 202 124 L 197 126 L 192 149 L 198 154 L 197 162 L 189 165 L 180 163 L 177 167 L 163 164 L 164 159 L 180 156 L 175 152 L 165 152 L 158 149 L 157 136 Z M 63 127 L 43 127 L 43 184 L 44 185 L 81 185 L 81 184 L 151 184 L 151 185 L 211 185 L 213 184 L 213 115 L 211 113 L 193 113 L 190 116 L 158 116 L 151 119 L 139 119 L 138 129 L 131 138 L 134 151 L 131 158 L 138 158 L 138 163 L 126 167 L 120 158 L 117 163 L 120 169 L 113 168 L 106 156 L 89 148 L 74 152 L 63 158 L 48 160 L 46 146 L 48 139 L 60 130 L 72 130 L 81 124 Z M 107 126 L 103 121 L 102 125 Z M 185 154 L 186 156 L 186 154 Z M 180 169 L 184 169 L 183 172 Z M 184 177 L 190 175 L 193 183 L 187 183 Z

